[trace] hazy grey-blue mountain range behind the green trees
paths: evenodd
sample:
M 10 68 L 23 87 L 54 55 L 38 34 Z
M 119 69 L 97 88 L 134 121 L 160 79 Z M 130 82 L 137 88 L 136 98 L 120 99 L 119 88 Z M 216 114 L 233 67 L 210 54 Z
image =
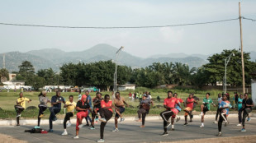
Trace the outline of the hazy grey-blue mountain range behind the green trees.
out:
M 64 52 L 57 48 L 44 48 L 40 50 L 31 50 L 26 53 L 9 52 L 5 54 L 5 64 L 8 71 L 18 71 L 18 66 L 23 61 L 29 61 L 35 67 L 35 70 L 52 68 L 54 71 L 59 71 L 64 63 L 78 62 L 98 62 L 105 60 L 116 60 L 115 48 L 109 44 L 97 44 L 92 48 L 78 52 Z M 252 56 L 254 55 L 254 56 Z M 169 53 L 166 55 L 153 55 L 150 58 L 138 58 L 130 53 L 121 51 L 118 57 L 118 64 L 130 66 L 132 68 L 147 67 L 153 62 L 182 62 L 189 67 L 201 67 L 205 64 L 206 59 L 210 55 L 185 53 Z M 0 67 L 2 68 L 3 53 L 0 53 Z M 256 53 L 251 54 L 252 60 L 256 59 Z

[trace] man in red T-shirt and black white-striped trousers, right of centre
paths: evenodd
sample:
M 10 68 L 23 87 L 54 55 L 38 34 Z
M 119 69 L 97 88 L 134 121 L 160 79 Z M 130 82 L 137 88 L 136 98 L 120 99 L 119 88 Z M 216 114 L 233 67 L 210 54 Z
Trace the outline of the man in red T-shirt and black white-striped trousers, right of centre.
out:
M 175 104 L 178 104 L 178 99 L 173 97 L 172 91 L 168 91 L 168 97 L 164 99 L 164 108 L 166 108 L 166 110 L 160 113 L 160 116 L 164 120 L 164 133 L 162 136 L 168 136 L 167 127 L 171 125 L 171 122 L 168 122 L 168 119 L 178 113 Z

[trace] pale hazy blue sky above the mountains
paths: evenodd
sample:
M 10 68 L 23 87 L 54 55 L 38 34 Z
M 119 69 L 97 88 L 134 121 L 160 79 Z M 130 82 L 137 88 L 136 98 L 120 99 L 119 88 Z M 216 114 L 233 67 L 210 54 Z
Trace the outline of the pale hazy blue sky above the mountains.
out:
M 240 1 L 256 19 L 256 1 Z M 0 23 L 66 26 L 178 25 L 239 17 L 236 0 L 0 0 Z M 242 20 L 244 51 L 256 51 L 256 21 Z M 151 29 L 59 29 L 0 25 L 0 53 L 59 48 L 83 51 L 110 44 L 140 58 L 155 54 L 211 54 L 239 48 L 239 20 Z

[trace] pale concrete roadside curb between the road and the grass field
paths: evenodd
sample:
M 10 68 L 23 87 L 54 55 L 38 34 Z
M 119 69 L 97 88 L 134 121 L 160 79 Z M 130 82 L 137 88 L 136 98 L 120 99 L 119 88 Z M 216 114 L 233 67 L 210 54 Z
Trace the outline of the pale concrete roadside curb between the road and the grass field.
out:
M 250 117 L 256 117 L 256 113 L 249 113 Z M 181 119 L 184 119 L 183 115 L 179 115 L 179 117 Z M 210 115 L 205 115 L 205 118 L 215 118 L 216 114 L 210 114 Z M 229 115 L 230 118 L 237 118 L 238 114 L 237 113 L 232 113 Z M 194 115 L 194 118 L 198 119 L 201 118 L 200 115 Z M 126 121 L 135 121 L 137 119 L 137 117 L 126 117 Z M 162 118 L 160 116 L 148 116 L 146 117 L 146 120 L 162 120 Z M 72 118 L 70 120 L 73 124 L 76 123 L 76 118 Z M 113 122 L 114 118 L 110 119 L 110 122 Z M 59 119 L 55 122 L 53 122 L 53 124 L 63 124 L 64 120 L 63 119 Z M 0 120 L 0 126 L 14 126 L 17 124 L 16 120 Z M 49 120 L 48 119 L 44 119 L 40 121 L 41 125 L 46 125 L 49 124 Z M 37 125 L 37 120 L 36 119 L 24 119 L 24 120 L 20 120 L 20 125 Z

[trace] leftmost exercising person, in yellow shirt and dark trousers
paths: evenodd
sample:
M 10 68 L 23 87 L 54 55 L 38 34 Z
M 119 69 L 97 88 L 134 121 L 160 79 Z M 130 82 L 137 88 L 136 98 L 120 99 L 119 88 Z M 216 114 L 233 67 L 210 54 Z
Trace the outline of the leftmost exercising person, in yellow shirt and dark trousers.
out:
M 23 93 L 21 92 L 20 98 L 17 99 L 17 104 L 14 105 L 14 108 L 17 112 L 17 126 L 20 126 L 21 112 L 26 108 L 26 101 L 29 103 L 31 102 L 31 99 L 23 97 Z

